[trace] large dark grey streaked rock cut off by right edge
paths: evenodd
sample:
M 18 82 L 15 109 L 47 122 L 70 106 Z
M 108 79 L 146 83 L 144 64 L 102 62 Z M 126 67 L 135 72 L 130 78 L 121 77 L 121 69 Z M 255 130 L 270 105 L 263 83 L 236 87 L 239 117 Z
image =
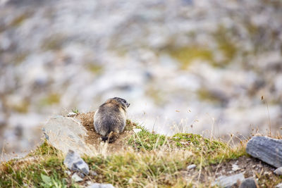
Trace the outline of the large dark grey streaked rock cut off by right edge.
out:
M 282 139 L 252 137 L 247 142 L 246 151 L 251 156 L 259 158 L 276 168 L 282 166 Z

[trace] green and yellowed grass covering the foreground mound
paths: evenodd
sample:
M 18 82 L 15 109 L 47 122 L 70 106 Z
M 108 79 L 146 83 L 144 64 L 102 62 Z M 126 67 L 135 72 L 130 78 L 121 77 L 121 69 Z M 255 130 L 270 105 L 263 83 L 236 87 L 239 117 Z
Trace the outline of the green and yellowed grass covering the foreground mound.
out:
M 216 177 L 216 170 L 225 165 L 227 168 L 234 160 L 243 164 L 247 161 L 245 158 L 250 158 L 245 153 L 245 144 L 231 147 L 219 139 L 206 139 L 197 134 L 178 133 L 166 137 L 138 125 L 137 128 L 142 131 L 128 137 L 124 142 L 128 146 L 125 151 L 107 156 L 83 156 L 97 175 L 87 175 L 82 182 L 71 181 L 61 152 L 44 142 L 25 158 L 1 163 L 0 187 L 80 187 L 87 186 L 89 181 L 116 187 L 205 187 L 214 181 L 210 177 Z M 257 163 L 260 162 L 252 161 Z M 197 168 L 187 170 L 190 164 Z M 246 163 L 244 169 L 249 165 Z M 267 166 L 262 168 L 273 170 Z M 269 179 L 262 173 L 257 173 L 257 178 L 259 184 L 266 187 L 282 182 L 281 177 Z

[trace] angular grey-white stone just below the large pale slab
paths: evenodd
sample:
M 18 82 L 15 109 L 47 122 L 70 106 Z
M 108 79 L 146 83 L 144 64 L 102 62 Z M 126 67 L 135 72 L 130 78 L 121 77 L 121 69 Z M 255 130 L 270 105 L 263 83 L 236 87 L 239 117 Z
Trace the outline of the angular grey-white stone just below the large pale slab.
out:
M 63 164 L 66 165 L 66 167 L 68 167 L 68 169 L 70 170 L 79 171 L 81 173 L 84 173 L 85 175 L 89 174 L 89 167 L 87 163 L 85 163 L 85 161 L 83 161 L 83 159 L 80 158 L 78 153 L 75 153 L 75 151 L 68 151 Z

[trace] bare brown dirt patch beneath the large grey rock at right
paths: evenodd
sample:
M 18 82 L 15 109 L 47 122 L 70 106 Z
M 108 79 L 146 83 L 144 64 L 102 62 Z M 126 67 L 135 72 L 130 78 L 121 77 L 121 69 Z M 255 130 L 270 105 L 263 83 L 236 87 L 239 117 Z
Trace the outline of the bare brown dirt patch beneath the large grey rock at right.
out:
M 238 165 L 238 170 L 233 171 L 232 165 Z M 274 185 L 281 182 L 281 178 L 275 175 L 273 171 L 276 168 L 271 167 L 257 158 L 248 156 L 242 156 L 238 159 L 219 163 L 217 165 L 209 165 L 200 169 L 192 169 L 188 171 L 182 171 L 182 175 L 192 178 L 193 180 L 209 184 L 214 182 L 217 177 L 221 175 L 235 175 L 238 173 L 244 173 L 245 178 L 255 177 L 258 179 L 259 187 L 274 187 Z M 236 186 L 234 186 L 236 187 Z

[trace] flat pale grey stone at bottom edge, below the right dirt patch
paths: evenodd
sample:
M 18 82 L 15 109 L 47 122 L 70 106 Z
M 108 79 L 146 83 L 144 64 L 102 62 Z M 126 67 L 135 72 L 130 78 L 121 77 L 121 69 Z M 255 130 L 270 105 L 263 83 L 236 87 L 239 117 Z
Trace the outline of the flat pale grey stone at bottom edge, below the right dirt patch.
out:
M 214 185 L 217 184 L 220 187 L 231 187 L 234 184 L 236 184 L 238 181 L 243 182 L 243 180 L 245 180 L 243 173 L 230 175 L 230 176 L 222 175 L 216 178 Z

